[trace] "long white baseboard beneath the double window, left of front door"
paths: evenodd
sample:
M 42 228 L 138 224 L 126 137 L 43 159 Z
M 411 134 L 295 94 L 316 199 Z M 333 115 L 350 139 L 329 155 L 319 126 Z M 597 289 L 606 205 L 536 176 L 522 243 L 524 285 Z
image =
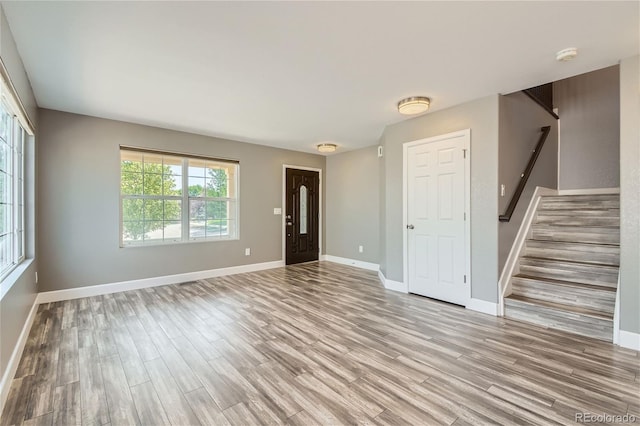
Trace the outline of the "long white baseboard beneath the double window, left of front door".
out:
M 60 300 L 79 299 L 81 297 L 99 296 L 102 294 L 118 293 L 127 290 L 157 287 L 168 284 L 178 284 L 205 278 L 222 277 L 225 275 L 242 274 L 245 272 L 262 271 L 265 269 L 285 266 L 283 260 L 273 262 L 252 263 L 250 265 L 230 266 L 228 268 L 209 269 L 206 271 L 186 272 L 183 274 L 165 275 L 161 277 L 143 278 L 139 280 L 121 281 L 110 284 L 99 284 L 87 287 L 70 288 L 65 290 L 47 291 L 38 294 L 37 303 L 58 302 Z

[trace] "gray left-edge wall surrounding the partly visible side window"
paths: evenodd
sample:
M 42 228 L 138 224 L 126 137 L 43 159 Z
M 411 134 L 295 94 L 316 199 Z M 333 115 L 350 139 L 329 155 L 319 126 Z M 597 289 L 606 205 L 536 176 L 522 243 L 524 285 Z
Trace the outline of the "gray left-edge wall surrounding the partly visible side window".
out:
M 38 116 L 33 91 L 2 8 L 0 8 L 0 59 L 9 72 L 9 78 L 17 91 L 21 103 L 25 106 L 29 119 L 34 125 L 37 125 Z M 27 245 L 25 249 L 31 263 L 17 278 L 13 287 L 0 300 L 0 377 L 5 374 L 9 359 L 27 320 L 29 310 L 35 302 L 37 293 L 35 271 L 38 265 L 35 258 L 36 230 L 33 214 L 35 211 L 35 164 L 33 155 L 31 155 L 34 152 L 33 144 L 34 142 L 31 140 L 26 147 L 28 150 L 26 158 L 31 158 L 32 161 L 27 162 L 25 169 L 25 200 L 27 202 L 25 222 Z M 7 285 L 7 283 L 8 280 L 3 285 Z

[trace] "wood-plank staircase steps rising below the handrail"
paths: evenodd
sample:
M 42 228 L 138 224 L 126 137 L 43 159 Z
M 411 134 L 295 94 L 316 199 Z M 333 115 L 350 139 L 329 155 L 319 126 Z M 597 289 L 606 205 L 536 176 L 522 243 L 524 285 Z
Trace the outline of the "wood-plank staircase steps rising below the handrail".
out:
M 505 316 L 610 342 L 619 244 L 619 195 L 543 196 Z

